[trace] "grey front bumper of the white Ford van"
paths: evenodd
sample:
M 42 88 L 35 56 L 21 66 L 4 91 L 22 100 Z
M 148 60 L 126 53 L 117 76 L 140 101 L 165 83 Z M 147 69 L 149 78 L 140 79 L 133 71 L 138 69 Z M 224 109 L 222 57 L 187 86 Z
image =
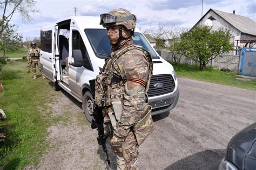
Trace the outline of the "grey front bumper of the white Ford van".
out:
M 179 89 L 170 95 L 159 96 L 157 98 L 149 98 L 149 104 L 152 106 L 152 114 L 158 115 L 167 112 L 176 107 L 179 100 Z

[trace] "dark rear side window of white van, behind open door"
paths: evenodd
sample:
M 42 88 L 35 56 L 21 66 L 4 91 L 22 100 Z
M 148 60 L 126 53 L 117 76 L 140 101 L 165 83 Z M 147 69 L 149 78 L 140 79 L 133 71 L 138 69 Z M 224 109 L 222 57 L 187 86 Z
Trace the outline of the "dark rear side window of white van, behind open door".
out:
M 41 31 L 41 49 L 42 51 L 51 53 L 51 41 L 52 41 L 52 31 Z

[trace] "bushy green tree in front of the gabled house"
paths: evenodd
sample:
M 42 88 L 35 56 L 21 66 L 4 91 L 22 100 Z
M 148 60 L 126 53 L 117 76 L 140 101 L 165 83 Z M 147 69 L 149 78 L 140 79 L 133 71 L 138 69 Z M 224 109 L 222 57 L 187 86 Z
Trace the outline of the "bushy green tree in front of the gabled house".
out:
M 230 38 L 229 30 L 211 31 L 211 27 L 195 27 L 181 33 L 180 42 L 173 50 L 199 63 L 200 70 L 204 70 L 209 61 L 233 49 Z

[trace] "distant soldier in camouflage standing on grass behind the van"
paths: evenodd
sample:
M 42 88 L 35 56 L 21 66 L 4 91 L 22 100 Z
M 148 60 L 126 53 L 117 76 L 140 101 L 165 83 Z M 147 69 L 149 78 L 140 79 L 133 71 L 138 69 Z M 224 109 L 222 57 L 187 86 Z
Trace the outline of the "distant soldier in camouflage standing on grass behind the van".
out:
M 39 68 L 40 73 L 42 74 L 42 77 L 45 79 L 45 76 L 43 74 L 43 70 L 39 66 L 40 62 L 40 48 L 37 48 L 36 42 L 31 42 L 31 48 L 29 48 L 27 59 L 28 59 L 28 73 L 30 72 L 30 67 L 32 66 L 33 69 L 33 79 L 36 79 L 36 66 Z

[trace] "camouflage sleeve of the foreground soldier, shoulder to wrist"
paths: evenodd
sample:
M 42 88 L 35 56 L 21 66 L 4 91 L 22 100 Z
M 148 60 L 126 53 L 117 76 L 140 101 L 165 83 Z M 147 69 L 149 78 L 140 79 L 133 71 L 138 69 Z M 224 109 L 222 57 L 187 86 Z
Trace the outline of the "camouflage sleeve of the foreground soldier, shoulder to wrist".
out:
M 129 81 L 140 79 L 147 82 L 147 60 L 139 50 L 129 51 L 124 57 L 124 73 L 126 77 L 124 89 L 123 112 L 118 122 L 116 134 L 127 136 L 131 126 L 136 124 L 145 108 L 145 87 L 142 84 Z

